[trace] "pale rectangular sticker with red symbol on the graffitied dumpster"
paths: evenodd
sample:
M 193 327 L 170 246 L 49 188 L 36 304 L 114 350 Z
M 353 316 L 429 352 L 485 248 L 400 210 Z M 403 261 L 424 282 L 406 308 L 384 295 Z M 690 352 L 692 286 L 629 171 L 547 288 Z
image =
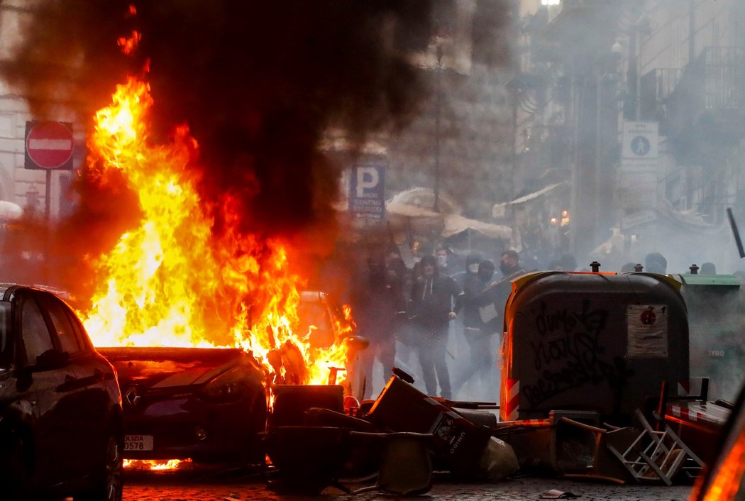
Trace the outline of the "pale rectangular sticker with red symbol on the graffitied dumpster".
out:
M 668 356 L 668 306 L 630 304 L 626 309 L 627 355 L 633 358 Z

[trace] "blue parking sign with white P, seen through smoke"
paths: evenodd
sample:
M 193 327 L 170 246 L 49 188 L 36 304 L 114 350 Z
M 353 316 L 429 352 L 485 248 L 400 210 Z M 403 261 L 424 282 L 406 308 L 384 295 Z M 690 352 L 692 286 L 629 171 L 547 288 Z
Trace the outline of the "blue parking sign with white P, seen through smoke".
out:
M 385 218 L 385 166 L 361 163 L 349 179 L 349 211 L 357 218 Z

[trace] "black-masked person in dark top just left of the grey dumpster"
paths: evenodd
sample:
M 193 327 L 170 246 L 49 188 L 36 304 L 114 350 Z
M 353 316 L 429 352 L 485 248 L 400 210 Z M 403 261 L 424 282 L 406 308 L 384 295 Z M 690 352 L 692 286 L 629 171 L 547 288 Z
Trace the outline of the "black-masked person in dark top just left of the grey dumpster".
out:
M 498 380 L 495 374 L 495 361 L 492 346 L 497 332 L 498 315 L 495 315 L 493 297 L 489 286 L 494 276 L 494 263 L 484 259 L 476 265 L 476 273 L 466 277 L 463 283 L 463 294 L 460 294 L 456 310 L 463 311 L 463 336 L 469 345 L 468 363 L 454 379 L 453 388 L 459 393 L 463 385 L 469 385 L 468 395 L 460 400 L 478 399 L 477 392 L 492 390 Z

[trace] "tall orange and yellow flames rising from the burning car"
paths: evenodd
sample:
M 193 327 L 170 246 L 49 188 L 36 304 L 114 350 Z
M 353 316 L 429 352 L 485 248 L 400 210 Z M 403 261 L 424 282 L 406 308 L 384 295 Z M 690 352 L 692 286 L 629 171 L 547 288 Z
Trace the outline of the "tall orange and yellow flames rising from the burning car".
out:
M 346 366 L 346 345 L 322 350 L 294 332 L 305 281 L 288 271 L 288 242 L 241 234 L 243 209 L 230 194 L 212 206 L 200 199 L 197 142 L 186 126 L 168 144 L 151 142 L 152 105 L 148 84 L 129 78 L 89 138 L 86 168 L 104 178 L 121 171 L 142 213 L 95 259 L 101 286 L 80 312 L 94 344 L 242 347 L 275 380 L 326 384 L 329 368 Z M 220 235 L 216 215 L 225 221 Z

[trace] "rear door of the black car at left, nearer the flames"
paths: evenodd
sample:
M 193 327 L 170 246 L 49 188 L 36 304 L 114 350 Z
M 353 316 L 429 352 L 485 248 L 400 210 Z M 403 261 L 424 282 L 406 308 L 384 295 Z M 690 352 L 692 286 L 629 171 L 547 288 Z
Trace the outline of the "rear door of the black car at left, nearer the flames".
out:
M 77 436 L 75 455 L 69 460 L 82 476 L 101 456 L 111 403 L 107 384 L 115 381 L 115 376 L 111 367 L 93 350 L 69 306 L 52 294 L 39 294 L 38 299 L 42 311 L 48 315 L 53 339 L 56 338 L 60 350 L 69 356 L 68 369 L 74 374 L 66 388 L 65 412 L 66 419 L 75 426 L 72 433 Z

